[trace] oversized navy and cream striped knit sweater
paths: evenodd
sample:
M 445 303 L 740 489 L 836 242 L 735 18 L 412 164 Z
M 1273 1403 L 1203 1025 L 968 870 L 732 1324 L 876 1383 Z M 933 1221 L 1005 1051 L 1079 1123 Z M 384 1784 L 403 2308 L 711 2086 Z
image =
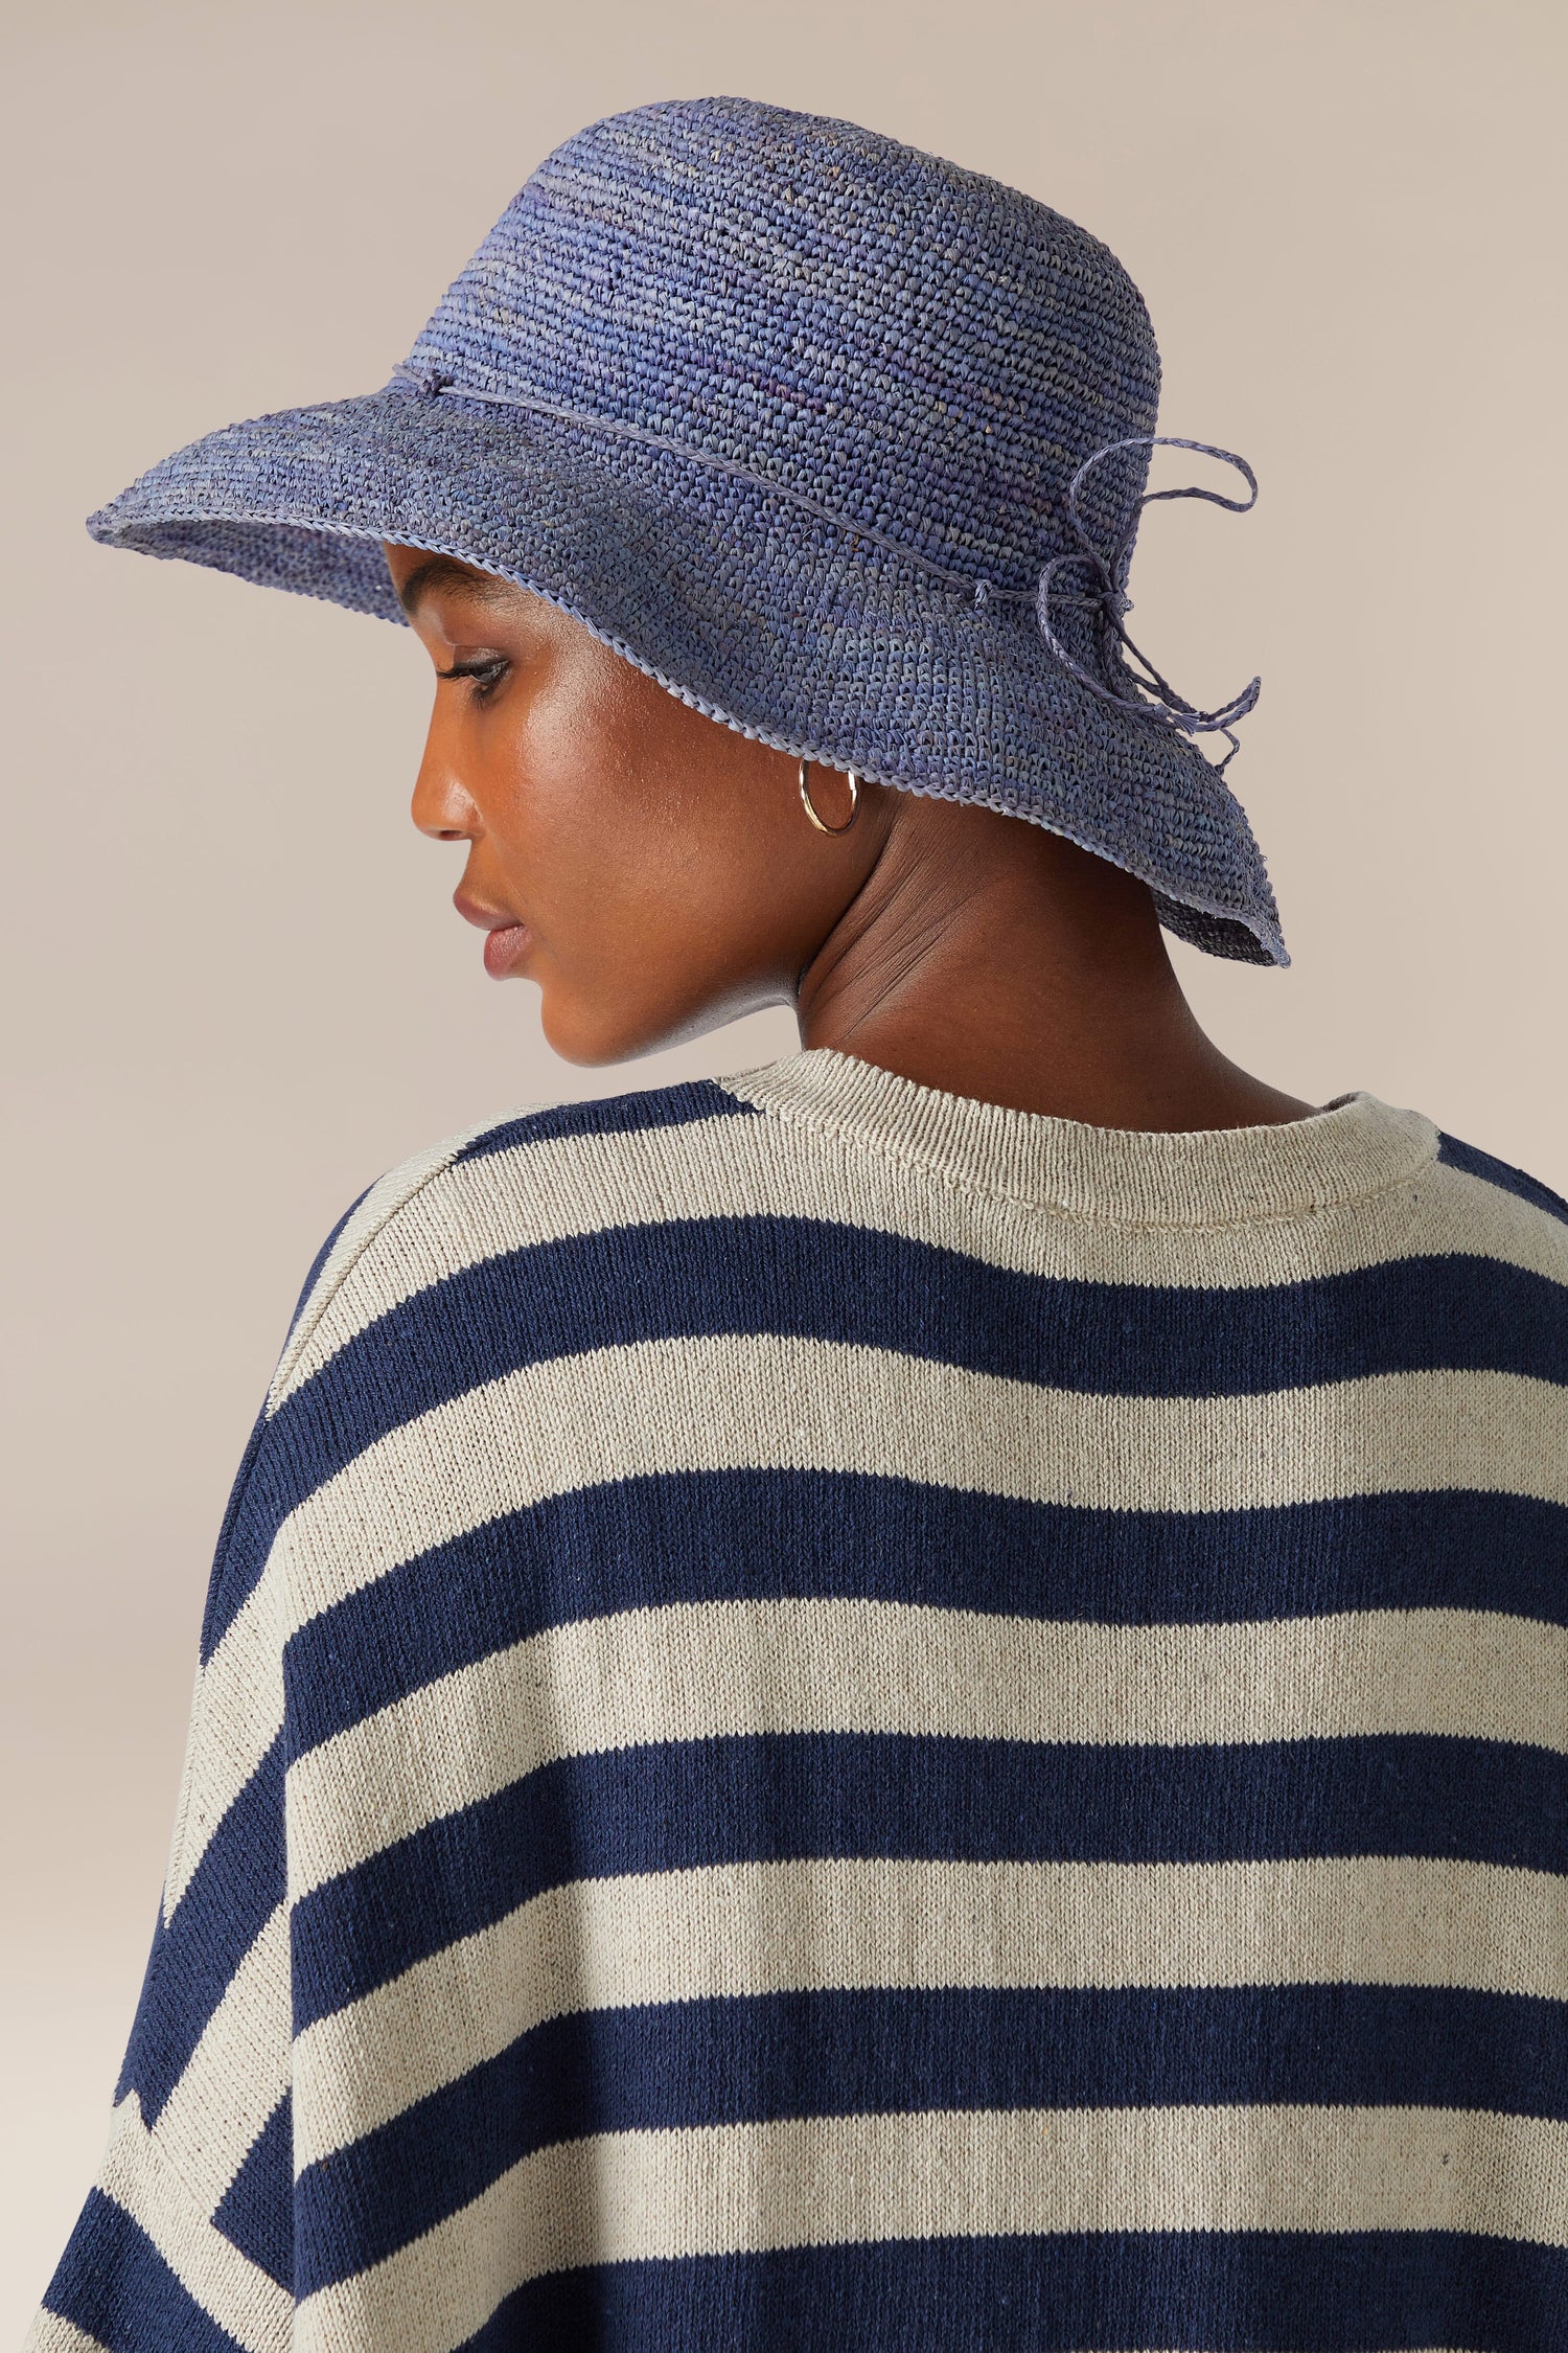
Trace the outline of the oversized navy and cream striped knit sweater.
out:
M 1568 2346 L 1568 1209 L 830 1049 L 310 1273 L 33 2353 Z

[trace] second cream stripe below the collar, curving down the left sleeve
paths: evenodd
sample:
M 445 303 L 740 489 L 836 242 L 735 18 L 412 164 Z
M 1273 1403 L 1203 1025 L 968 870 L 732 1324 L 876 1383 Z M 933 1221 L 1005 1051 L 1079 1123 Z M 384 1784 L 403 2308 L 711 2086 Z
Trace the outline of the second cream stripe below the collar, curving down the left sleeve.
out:
M 870 1471 L 1112 1511 L 1481 1487 L 1568 1501 L 1568 1388 L 1380 1374 L 1258 1398 L 1100 1398 L 884 1348 L 745 1334 L 524 1365 L 376 1440 L 284 1522 L 202 1675 L 179 1885 L 282 1725 L 282 1640 L 484 1520 L 639 1473 Z

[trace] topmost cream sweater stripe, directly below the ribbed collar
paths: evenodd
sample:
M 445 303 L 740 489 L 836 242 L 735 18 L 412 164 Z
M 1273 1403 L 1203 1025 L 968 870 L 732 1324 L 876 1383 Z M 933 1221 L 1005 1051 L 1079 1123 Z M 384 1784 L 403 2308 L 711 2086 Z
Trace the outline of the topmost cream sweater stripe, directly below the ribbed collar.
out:
M 336 1282 L 273 1386 L 273 1407 L 376 1315 L 522 1242 L 559 1242 L 614 1226 L 686 1217 L 816 1217 L 910 1242 L 964 1249 L 987 1266 L 1079 1282 L 1232 1289 L 1354 1273 L 1382 1259 L 1495 1257 L 1568 1280 L 1568 1235 L 1540 1209 L 1458 1169 L 1429 1165 L 1418 1186 L 1326 1209 L 1302 1245 L 1302 1219 L 1229 1228 L 1091 1224 L 1046 1205 L 971 1195 L 799 1122 L 717 1118 L 632 1134 L 559 1136 L 451 1167 Z M 402 1174 L 402 1172 L 393 1172 Z M 388 1186 L 393 1179 L 383 1179 Z M 364 1205 L 369 1212 L 369 1202 Z M 362 1249 L 362 1240 L 355 1245 Z M 348 1254 L 343 1233 L 334 1261 Z M 322 1273 L 324 1287 L 329 1271 Z

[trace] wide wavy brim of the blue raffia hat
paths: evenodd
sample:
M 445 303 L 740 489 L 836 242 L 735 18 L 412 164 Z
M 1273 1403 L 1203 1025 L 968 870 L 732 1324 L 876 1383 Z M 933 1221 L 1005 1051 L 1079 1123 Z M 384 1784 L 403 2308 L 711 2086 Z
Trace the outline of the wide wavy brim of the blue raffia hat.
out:
M 1258 842 L 1197 746 L 1081 687 L 1027 600 L 976 605 L 853 520 L 625 435 L 388 386 L 209 433 L 87 529 L 383 621 L 404 614 L 381 541 L 456 555 L 741 734 L 1046 826 L 1147 882 L 1180 939 L 1286 965 Z M 1088 661 L 1074 628 L 1065 612 Z

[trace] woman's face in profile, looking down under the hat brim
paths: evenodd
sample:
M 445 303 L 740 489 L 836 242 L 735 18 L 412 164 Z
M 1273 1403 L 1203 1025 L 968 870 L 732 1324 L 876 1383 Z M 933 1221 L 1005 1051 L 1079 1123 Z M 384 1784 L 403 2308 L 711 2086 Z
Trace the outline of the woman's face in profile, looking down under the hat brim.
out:
M 414 824 L 465 840 L 456 908 L 496 979 L 538 981 L 543 1031 L 576 1064 L 795 995 L 870 871 L 870 807 L 842 838 L 806 819 L 788 753 L 677 701 L 527 588 L 388 546 L 435 664 Z M 832 824 L 849 786 L 811 772 Z

